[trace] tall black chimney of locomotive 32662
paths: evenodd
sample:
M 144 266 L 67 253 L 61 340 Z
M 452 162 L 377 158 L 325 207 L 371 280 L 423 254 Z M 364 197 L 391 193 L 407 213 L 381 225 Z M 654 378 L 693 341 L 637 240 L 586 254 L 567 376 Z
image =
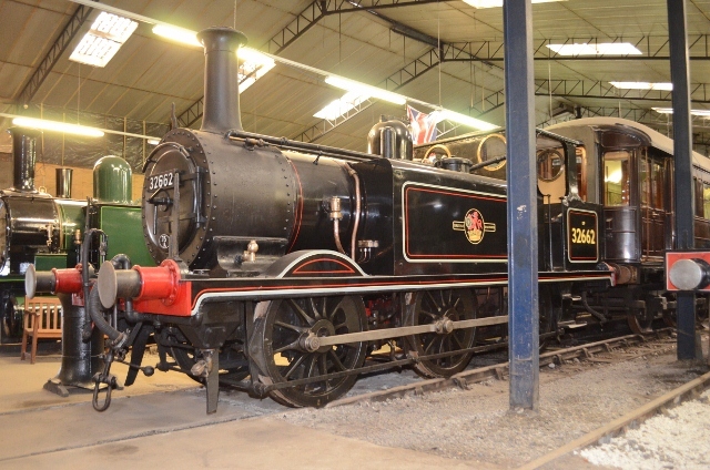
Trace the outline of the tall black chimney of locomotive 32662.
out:
M 242 130 L 236 51 L 246 37 L 232 28 L 209 28 L 197 33 L 204 45 L 204 106 L 201 131 Z

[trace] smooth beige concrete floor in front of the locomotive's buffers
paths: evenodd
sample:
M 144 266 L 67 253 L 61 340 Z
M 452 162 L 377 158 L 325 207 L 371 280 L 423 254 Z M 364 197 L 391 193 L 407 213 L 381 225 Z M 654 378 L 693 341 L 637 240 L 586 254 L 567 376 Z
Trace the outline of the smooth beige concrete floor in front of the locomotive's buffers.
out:
M 204 389 L 176 372 L 139 376 L 100 413 L 89 391 L 61 398 L 42 388 L 59 367 L 57 354 L 31 365 L 0 349 L 0 468 L 497 468 L 288 425 L 270 418 L 287 408 L 240 392 L 221 392 L 217 412 L 207 416 Z M 121 380 L 125 371 L 112 368 Z

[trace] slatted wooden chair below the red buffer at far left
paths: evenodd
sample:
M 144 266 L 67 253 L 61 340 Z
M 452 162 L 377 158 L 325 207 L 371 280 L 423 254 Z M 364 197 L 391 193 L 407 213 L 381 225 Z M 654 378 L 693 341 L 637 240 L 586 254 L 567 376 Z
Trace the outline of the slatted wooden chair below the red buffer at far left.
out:
M 30 364 L 34 364 L 37 357 L 37 340 L 40 338 L 62 338 L 62 304 L 57 297 L 36 297 L 24 299 L 24 314 L 22 315 L 22 352 L 20 359 L 24 360 L 27 337 L 32 337 L 32 352 Z

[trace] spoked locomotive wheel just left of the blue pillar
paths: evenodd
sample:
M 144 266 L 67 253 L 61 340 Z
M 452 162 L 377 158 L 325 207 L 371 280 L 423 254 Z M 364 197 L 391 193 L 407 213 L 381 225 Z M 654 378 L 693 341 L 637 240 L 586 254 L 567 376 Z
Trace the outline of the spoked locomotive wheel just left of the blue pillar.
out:
M 452 321 L 476 318 L 476 300 L 468 289 L 425 290 L 414 295 L 407 308 L 407 326 L 427 325 L 439 320 Z M 425 333 L 406 338 L 407 348 L 422 358 L 440 352 L 468 349 L 476 340 L 476 328 L 455 329 L 450 333 Z M 420 359 L 414 370 L 423 377 L 450 377 L 466 368 L 473 352 Z

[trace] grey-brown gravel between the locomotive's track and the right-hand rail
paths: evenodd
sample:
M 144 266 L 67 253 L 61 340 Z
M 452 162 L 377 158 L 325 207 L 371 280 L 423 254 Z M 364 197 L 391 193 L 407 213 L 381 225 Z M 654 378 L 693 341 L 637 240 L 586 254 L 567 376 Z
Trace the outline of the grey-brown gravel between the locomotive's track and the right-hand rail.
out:
M 508 381 L 490 380 L 468 390 L 278 416 L 379 446 L 515 468 L 707 371 L 678 362 L 672 339 L 592 359 L 545 368 L 538 412 L 510 411 Z

